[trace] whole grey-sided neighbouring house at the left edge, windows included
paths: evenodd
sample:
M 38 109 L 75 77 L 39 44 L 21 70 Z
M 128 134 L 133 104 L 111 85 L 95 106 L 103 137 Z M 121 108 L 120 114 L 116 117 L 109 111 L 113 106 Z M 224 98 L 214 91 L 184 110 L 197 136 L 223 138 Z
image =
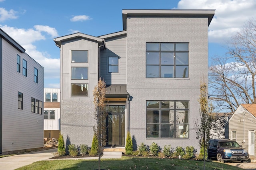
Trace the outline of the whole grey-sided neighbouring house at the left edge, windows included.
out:
M 44 68 L 0 29 L 0 153 L 43 147 Z

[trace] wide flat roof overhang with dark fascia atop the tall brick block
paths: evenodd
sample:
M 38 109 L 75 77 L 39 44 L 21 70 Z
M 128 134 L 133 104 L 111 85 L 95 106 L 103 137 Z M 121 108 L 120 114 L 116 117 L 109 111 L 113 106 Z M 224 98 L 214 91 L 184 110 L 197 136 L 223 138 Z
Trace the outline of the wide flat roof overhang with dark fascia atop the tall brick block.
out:
M 123 29 L 126 30 L 128 17 L 208 17 L 208 26 L 215 10 L 122 10 Z

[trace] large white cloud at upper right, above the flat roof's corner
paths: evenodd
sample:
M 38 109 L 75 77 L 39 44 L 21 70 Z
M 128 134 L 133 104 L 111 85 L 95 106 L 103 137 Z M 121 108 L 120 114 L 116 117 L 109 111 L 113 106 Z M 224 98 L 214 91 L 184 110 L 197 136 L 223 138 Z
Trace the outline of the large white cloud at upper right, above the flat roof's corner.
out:
M 224 43 L 250 18 L 256 18 L 256 0 L 180 0 L 177 9 L 216 10 L 209 41 Z

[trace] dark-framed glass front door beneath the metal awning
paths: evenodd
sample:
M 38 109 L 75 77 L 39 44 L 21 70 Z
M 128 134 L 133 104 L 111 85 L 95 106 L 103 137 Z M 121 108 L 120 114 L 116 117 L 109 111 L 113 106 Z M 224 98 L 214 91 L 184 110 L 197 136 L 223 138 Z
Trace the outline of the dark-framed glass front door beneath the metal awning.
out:
M 107 106 L 107 146 L 125 146 L 125 106 Z

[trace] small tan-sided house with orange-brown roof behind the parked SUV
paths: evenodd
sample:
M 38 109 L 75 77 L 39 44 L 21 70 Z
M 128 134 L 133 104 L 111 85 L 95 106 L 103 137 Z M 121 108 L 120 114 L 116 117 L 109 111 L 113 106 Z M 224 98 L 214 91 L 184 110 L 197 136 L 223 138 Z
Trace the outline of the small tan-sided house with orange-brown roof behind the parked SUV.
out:
M 256 160 L 256 104 L 240 104 L 225 127 L 225 138 L 237 141 Z

